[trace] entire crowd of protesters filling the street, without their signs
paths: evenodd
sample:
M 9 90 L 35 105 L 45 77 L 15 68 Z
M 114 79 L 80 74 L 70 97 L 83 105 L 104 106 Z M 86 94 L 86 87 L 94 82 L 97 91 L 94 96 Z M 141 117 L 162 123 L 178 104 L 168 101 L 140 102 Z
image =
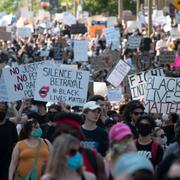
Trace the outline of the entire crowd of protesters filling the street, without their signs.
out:
M 180 71 L 159 61 L 162 49 L 179 55 L 180 39 L 172 39 L 160 25 L 153 27 L 151 37 L 146 25 L 131 33 L 125 24 L 116 28 L 122 42 L 114 51 L 131 66 L 131 72 L 163 67 L 167 76 L 180 77 Z M 136 35 L 142 37 L 141 45 L 129 49 L 127 39 Z M 52 20 L 51 28 L 42 33 L 35 28 L 30 38 L 1 40 L 1 70 L 7 65 L 61 61 L 77 64 L 91 72 L 92 81 L 109 85 L 106 69 L 95 72 L 90 61 L 73 61 L 73 39 L 89 41 L 89 59 L 111 51 L 103 35 L 72 35 L 70 27 Z M 44 50 L 48 56 L 41 55 Z M 145 53 L 150 60 L 143 59 Z M 121 85 L 124 96 L 116 107 L 106 97 L 90 93 L 83 107 L 33 99 L 0 102 L 0 179 L 180 179 L 179 115 L 145 112 L 140 100 L 132 100 L 126 81 Z

